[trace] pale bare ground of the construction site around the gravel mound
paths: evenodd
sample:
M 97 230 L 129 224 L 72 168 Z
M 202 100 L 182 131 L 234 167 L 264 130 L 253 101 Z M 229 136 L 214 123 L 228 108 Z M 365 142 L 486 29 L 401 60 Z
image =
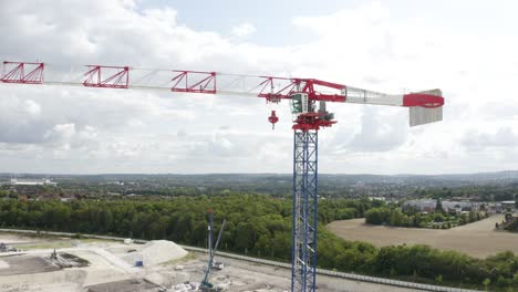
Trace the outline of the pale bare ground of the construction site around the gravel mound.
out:
M 0 242 L 10 234 L 0 233 Z M 48 239 L 51 240 L 51 239 Z M 186 281 L 200 282 L 207 264 L 207 254 L 194 253 L 183 261 L 169 262 L 144 268 L 130 267 L 121 260 L 128 249 L 136 244 L 111 241 L 77 241 L 69 239 L 74 248 L 58 249 L 87 260 L 90 264 L 81 268 L 48 270 L 43 258 L 53 249 L 35 249 L 23 255 L 0 253 L 3 268 L 0 269 L 0 291 L 6 292 L 85 292 L 90 291 L 156 291 L 156 286 L 170 288 Z M 58 239 L 62 242 L 63 239 Z M 17 259 L 17 260 L 11 260 Z M 22 259 L 22 260 L 20 260 Z M 290 288 L 290 270 L 255 264 L 227 258 L 218 258 L 225 263 L 221 271 L 213 271 L 210 282 L 221 284 L 229 292 L 263 291 L 283 292 Z M 180 264 L 183 269 L 175 269 Z M 138 281 L 136 281 L 138 280 Z M 358 282 L 318 275 L 321 292 L 406 292 L 404 288 Z

